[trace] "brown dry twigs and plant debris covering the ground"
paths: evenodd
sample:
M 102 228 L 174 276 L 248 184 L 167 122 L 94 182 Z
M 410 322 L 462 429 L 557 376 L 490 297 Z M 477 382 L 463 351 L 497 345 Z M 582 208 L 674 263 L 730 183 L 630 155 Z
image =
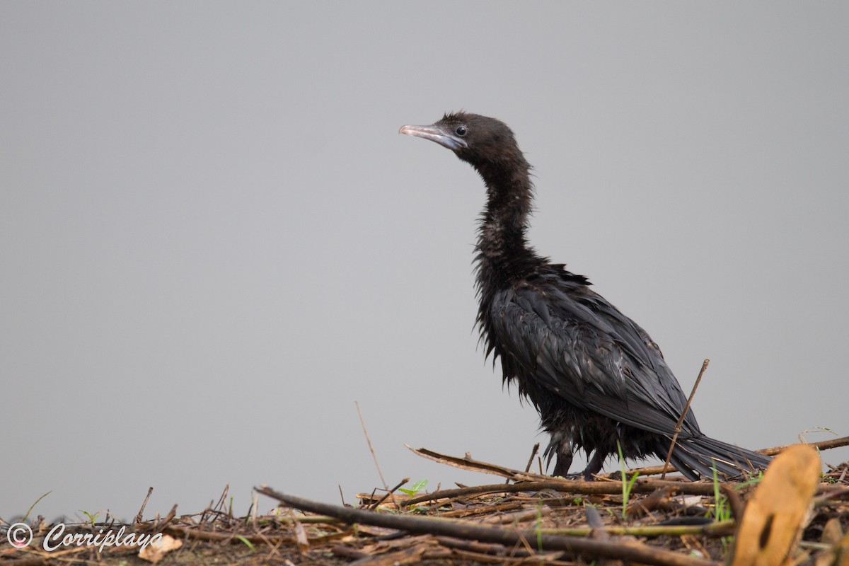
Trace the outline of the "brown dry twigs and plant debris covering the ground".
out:
M 849 439 L 819 443 L 846 446 Z M 817 446 L 817 445 L 814 445 Z M 596 481 L 549 478 L 469 457 L 415 451 L 507 483 L 419 493 L 399 486 L 360 496 L 357 507 L 311 502 L 256 488 L 281 507 L 234 517 L 226 494 L 204 513 L 126 525 L 183 545 L 160 564 L 644 563 L 708 566 L 849 564 L 849 462 L 821 474 L 818 452 L 783 447 L 762 476 L 739 482 L 689 482 L 656 468 Z M 775 451 L 780 451 L 776 449 Z M 639 473 L 636 479 L 634 474 Z M 611 477 L 614 476 L 614 477 Z M 629 487 L 630 486 L 630 487 Z M 77 530 L 115 524 L 74 525 Z M 49 525 L 33 524 L 36 543 Z M 70 527 L 69 527 L 70 528 Z M 0 566 L 145 564 L 138 548 L 44 552 L 0 542 Z

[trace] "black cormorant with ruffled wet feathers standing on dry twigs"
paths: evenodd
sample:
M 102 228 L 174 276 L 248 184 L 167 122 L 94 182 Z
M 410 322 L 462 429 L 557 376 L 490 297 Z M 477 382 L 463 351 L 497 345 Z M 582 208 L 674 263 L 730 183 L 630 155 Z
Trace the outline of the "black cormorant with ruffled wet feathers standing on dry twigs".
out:
M 588 457 L 591 479 L 616 454 L 666 459 L 686 404 L 678 380 L 643 328 L 590 289 L 586 277 L 537 255 L 527 242 L 533 184 L 513 132 L 486 116 L 447 114 L 431 126 L 402 126 L 451 149 L 486 183 L 476 246 L 477 324 L 486 356 L 518 386 L 551 435 L 548 462 L 565 476 L 573 453 Z M 592 457 L 590 457 L 592 453 Z M 672 465 L 689 479 L 766 468 L 770 458 L 702 434 L 683 419 Z M 575 474 L 577 475 L 577 474 Z

